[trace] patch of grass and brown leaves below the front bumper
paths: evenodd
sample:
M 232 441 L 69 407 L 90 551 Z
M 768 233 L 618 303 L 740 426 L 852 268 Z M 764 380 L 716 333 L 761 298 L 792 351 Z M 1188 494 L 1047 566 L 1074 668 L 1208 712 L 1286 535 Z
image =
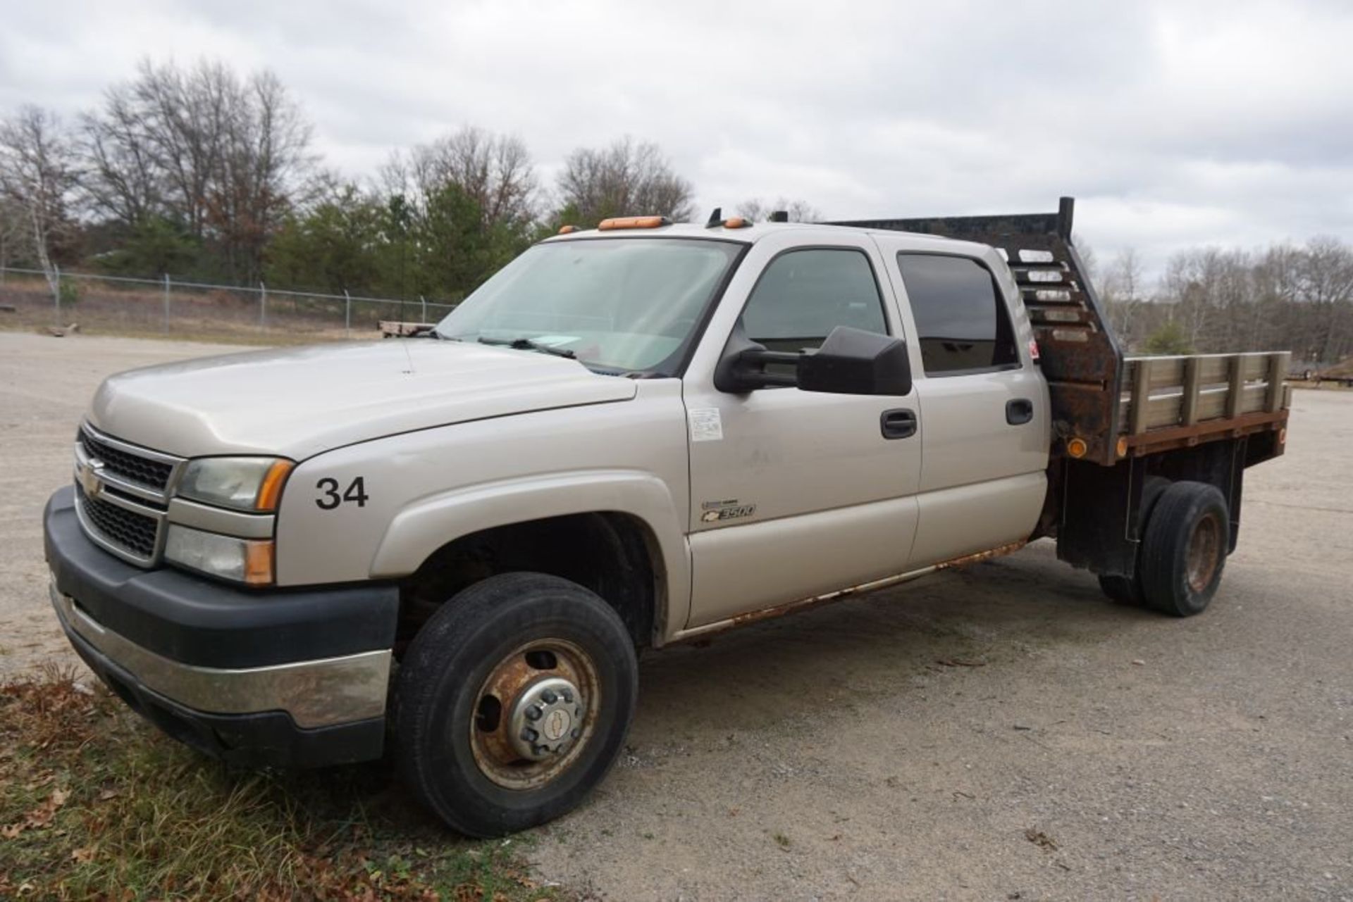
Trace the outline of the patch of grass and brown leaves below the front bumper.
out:
M 0 686 L 0 899 L 561 899 L 521 840 L 461 840 L 382 764 L 272 775 L 161 736 L 101 686 Z

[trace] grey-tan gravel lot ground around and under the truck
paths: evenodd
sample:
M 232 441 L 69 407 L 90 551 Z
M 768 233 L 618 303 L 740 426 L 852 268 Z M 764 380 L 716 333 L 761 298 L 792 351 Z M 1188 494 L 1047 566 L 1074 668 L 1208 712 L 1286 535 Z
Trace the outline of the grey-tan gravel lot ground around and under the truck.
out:
M 97 380 L 218 350 L 0 334 L 0 671 L 69 660 L 38 522 Z M 1353 394 L 1295 392 L 1247 481 L 1203 617 L 1040 542 L 649 656 L 532 860 L 617 902 L 1353 899 Z

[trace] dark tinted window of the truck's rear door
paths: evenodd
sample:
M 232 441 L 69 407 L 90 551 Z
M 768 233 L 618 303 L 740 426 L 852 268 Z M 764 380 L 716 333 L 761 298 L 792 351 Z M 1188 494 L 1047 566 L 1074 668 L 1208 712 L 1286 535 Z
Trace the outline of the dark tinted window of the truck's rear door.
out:
M 1015 330 L 990 270 L 967 257 L 897 254 L 930 376 L 1019 365 Z

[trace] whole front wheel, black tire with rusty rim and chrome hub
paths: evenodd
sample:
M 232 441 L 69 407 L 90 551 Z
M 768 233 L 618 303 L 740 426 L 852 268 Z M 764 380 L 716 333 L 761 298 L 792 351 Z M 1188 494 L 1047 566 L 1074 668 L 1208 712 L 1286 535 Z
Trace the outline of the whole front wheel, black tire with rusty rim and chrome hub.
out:
M 602 780 L 633 719 L 639 664 L 620 615 L 594 592 L 502 573 L 423 625 L 395 694 L 395 757 L 410 788 L 460 833 L 494 837 L 570 811 Z

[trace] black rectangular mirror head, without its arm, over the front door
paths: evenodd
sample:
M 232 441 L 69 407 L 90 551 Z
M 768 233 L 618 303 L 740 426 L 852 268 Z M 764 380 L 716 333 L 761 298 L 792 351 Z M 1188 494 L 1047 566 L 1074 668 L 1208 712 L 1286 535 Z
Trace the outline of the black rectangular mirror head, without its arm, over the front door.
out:
M 907 342 L 850 326 L 838 326 L 821 348 L 800 354 L 796 375 L 802 391 L 835 395 L 909 395 L 912 391 Z

